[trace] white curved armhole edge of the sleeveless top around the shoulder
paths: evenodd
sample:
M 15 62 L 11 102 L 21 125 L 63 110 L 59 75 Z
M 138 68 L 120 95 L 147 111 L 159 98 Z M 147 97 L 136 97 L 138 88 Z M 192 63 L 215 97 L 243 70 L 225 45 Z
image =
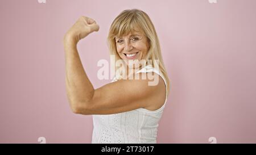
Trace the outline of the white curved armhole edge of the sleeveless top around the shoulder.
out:
M 157 110 L 147 110 L 146 108 L 138 108 L 136 110 L 142 111 L 142 112 L 146 112 L 146 113 L 156 113 L 156 112 L 159 112 L 159 111 L 163 110 L 163 108 L 166 106 L 166 101 L 167 101 L 167 84 L 166 84 L 166 79 L 164 78 L 163 74 L 160 73 L 155 68 L 152 68 L 152 67 L 150 69 L 143 68 L 143 69 L 139 70 L 137 73 L 148 73 L 148 72 L 154 72 L 154 73 L 158 74 L 163 79 L 164 85 L 166 86 L 166 100 L 164 101 L 163 106 L 158 108 Z

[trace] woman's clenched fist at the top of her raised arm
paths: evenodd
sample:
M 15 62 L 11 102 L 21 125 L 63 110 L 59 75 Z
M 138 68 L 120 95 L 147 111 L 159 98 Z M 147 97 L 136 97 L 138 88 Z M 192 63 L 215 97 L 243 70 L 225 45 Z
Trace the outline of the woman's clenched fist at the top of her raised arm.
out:
M 95 20 L 86 16 L 81 16 L 77 22 L 73 24 L 73 26 L 68 30 L 68 32 L 65 33 L 64 40 L 72 40 L 77 44 L 79 40 L 83 39 L 93 31 L 98 31 L 99 28 L 100 27 L 98 24 L 96 24 Z

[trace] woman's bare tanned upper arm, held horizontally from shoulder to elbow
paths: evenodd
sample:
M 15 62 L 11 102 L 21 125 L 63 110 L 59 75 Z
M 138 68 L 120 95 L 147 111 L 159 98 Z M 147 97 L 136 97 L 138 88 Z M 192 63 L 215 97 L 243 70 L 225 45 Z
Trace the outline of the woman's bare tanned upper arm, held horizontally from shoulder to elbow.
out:
M 145 76 L 147 73 L 139 74 Z M 121 79 L 94 90 L 89 102 L 80 103 L 79 114 L 117 114 L 137 108 L 146 108 L 159 101 L 163 104 L 165 100 L 164 82 L 158 74 L 155 73 L 154 76 L 159 79 L 154 86 L 148 85 L 148 82 L 152 82 L 148 78 Z

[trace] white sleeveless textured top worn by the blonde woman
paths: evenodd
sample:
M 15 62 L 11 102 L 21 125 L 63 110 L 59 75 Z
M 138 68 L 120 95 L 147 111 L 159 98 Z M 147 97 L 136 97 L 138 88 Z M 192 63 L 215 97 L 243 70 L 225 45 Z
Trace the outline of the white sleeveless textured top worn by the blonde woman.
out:
M 155 72 L 163 78 L 166 85 L 163 74 L 152 66 L 145 66 L 137 73 L 140 72 Z M 115 81 L 117 78 L 114 78 L 112 82 Z M 154 111 L 138 108 L 118 114 L 93 115 L 92 143 L 156 143 L 158 123 L 166 100 L 162 107 Z

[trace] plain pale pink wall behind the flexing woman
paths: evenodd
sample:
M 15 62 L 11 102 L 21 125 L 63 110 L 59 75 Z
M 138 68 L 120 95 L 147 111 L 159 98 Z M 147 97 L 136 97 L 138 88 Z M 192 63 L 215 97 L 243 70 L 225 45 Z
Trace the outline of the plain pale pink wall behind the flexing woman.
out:
M 255 0 L 0 2 L 0 143 L 90 143 L 92 116 L 73 114 L 65 93 L 64 33 L 81 16 L 100 25 L 79 43 L 95 88 L 110 60 L 115 16 L 151 17 L 171 80 L 158 143 L 256 143 Z

